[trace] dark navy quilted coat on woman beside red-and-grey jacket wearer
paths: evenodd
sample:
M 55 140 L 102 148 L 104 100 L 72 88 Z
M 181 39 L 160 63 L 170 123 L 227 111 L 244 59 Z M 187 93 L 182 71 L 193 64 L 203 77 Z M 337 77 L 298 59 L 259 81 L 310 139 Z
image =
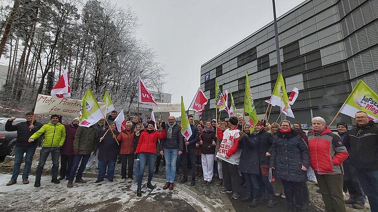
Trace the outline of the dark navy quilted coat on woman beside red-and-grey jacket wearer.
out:
M 276 169 L 275 176 L 284 181 L 305 182 L 307 171 L 302 165 L 310 166 L 309 149 L 296 132 L 277 132 L 277 140 L 270 151 L 270 167 Z

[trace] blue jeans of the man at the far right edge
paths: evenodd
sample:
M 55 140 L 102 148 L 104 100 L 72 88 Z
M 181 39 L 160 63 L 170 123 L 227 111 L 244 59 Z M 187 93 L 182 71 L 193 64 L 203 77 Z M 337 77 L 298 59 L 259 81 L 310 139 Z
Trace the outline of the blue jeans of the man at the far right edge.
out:
M 366 196 L 368 196 L 370 209 L 378 212 L 378 171 L 357 172 L 358 179 Z

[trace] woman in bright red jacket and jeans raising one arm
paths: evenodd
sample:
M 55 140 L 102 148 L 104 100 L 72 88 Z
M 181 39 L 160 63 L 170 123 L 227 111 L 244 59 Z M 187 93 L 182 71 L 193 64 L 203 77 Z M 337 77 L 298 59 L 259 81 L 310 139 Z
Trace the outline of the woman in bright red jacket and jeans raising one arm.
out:
M 161 132 L 155 130 L 155 122 L 149 121 L 147 129 L 140 134 L 138 146 L 135 153 L 139 154 L 139 176 L 138 176 L 138 189 L 136 191 L 137 196 L 142 196 L 142 178 L 144 167 L 148 161 L 149 171 L 147 187 L 154 189 L 154 185 L 151 184 L 152 177 L 154 176 L 154 166 L 156 160 L 156 143 L 158 139 L 163 139 L 167 136 L 165 131 L 165 122 L 161 121 Z

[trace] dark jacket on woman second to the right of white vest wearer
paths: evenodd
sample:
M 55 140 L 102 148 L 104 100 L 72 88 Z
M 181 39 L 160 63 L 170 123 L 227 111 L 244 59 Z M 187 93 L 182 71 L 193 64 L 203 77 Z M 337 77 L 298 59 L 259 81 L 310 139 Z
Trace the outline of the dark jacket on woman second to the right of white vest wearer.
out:
M 261 130 L 256 133 L 252 139 L 257 140 L 258 160 L 260 165 L 269 165 L 269 157 L 265 156 L 266 152 L 269 152 L 270 147 L 273 144 L 273 136 L 271 133 Z

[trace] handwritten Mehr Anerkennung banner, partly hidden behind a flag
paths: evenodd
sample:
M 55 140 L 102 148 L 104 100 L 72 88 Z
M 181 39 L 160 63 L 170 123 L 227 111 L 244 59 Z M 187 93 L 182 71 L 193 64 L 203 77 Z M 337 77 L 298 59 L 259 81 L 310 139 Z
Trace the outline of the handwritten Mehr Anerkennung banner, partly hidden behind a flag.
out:
M 103 114 L 106 115 L 106 103 L 98 103 Z M 69 117 L 80 116 L 81 100 L 57 98 L 38 94 L 35 104 L 35 114 L 61 115 Z

